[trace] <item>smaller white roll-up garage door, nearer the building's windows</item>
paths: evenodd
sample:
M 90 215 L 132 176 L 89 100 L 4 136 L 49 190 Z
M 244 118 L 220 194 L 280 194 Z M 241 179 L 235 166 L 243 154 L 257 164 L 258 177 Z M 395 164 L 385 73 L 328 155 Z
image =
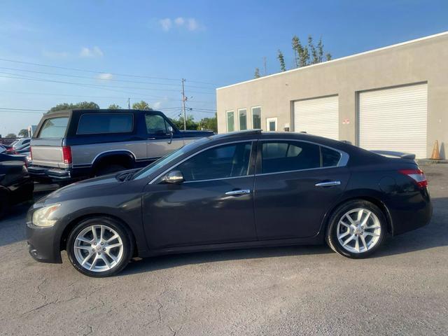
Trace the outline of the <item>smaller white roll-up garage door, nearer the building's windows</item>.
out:
M 338 105 L 337 96 L 294 102 L 294 131 L 338 140 Z

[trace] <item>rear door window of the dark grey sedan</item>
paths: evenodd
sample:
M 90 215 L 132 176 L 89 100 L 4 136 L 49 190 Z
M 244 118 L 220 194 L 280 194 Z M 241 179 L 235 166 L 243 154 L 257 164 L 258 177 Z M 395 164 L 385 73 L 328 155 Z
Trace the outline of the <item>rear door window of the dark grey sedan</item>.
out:
M 319 167 L 321 167 L 321 153 L 318 145 L 300 141 L 262 143 L 262 174 Z

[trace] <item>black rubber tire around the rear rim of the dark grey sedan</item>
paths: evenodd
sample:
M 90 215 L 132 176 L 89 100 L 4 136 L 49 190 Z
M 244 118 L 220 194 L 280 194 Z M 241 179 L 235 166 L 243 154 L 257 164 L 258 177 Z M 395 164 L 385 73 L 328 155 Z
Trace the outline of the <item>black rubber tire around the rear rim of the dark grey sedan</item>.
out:
M 339 239 L 337 238 L 337 230 L 338 230 L 339 221 L 344 217 L 345 214 L 349 213 L 349 211 L 353 211 L 354 209 L 366 209 L 367 211 L 371 211 L 372 214 L 374 214 L 379 221 L 379 226 L 380 226 L 379 231 L 380 232 L 379 232 L 379 236 L 377 236 L 378 239 L 375 242 L 375 244 L 372 244 L 373 246 L 371 248 L 368 248 L 366 251 L 360 251 L 360 252 L 349 251 L 348 248 L 350 248 L 353 243 L 351 242 L 349 246 L 344 247 L 341 244 L 341 242 L 339 241 Z M 341 228 L 342 228 L 342 226 L 341 226 Z M 370 229 L 370 230 L 373 230 L 373 229 Z M 377 232 L 377 230 L 374 230 L 374 231 Z M 354 232 L 356 232 L 356 231 L 354 231 Z M 366 232 L 367 232 L 367 230 L 366 230 Z M 337 207 L 337 209 L 335 209 L 335 211 L 332 212 L 332 215 L 330 216 L 330 218 L 328 220 L 328 227 L 327 227 L 325 239 L 327 241 L 328 246 L 330 246 L 330 248 L 332 248 L 332 250 L 335 251 L 336 253 L 339 253 L 340 255 L 344 255 L 344 257 L 347 257 L 347 258 L 362 259 L 362 258 L 369 257 L 370 255 L 372 255 L 372 253 L 374 253 L 375 251 L 378 250 L 378 248 L 381 246 L 382 242 L 384 241 L 384 237 L 386 237 L 386 232 L 387 232 L 386 217 L 384 216 L 383 211 L 381 211 L 381 209 L 379 209 L 379 207 L 377 207 L 375 204 L 373 204 L 371 202 L 367 202 L 365 200 L 350 200 L 350 201 L 347 201 L 346 203 L 340 205 L 339 207 Z M 353 234 L 348 233 L 347 235 L 353 235 Z M 365 235 L 364 232 L 359 233 L 358 237 L 355 238 L 355 239 L 359 238 L 358 244 L 362 244 L 362 241 L 360 241 L 360 238 L 361 238 L 360 235 L 363 235 L 363 237 L 365 237 L 365 239 L 367 239 L 367 235 Z M 353 241 L 355 239 L 353 239 Z M 373 237 L 370 239 L 373 239 Z M 345 243 L 345 241 L 344 241 L 344 243 Z M 368 244 L 368 241 L 367 241 L 367 244 Z M 361 246 L 360 248 L 365 249 L 363 246 Z

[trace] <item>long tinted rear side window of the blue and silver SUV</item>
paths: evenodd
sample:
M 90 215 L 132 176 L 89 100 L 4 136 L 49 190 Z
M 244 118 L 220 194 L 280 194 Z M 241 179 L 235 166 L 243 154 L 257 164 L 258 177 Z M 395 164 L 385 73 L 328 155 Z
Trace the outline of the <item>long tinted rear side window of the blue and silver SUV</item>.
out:
M 132 114 L 83 114 L 76 134 L 130 133 Z

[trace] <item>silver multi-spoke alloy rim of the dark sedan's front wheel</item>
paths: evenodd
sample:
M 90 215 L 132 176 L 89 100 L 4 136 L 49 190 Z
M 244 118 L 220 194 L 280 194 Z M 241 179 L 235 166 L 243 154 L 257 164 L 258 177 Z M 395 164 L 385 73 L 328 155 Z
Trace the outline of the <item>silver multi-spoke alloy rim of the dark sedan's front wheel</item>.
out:
M 123 258 L 123 241 L 109 226 L 90 225 L 76 236 L 73 253 L 84 269 L 105 272 Z

